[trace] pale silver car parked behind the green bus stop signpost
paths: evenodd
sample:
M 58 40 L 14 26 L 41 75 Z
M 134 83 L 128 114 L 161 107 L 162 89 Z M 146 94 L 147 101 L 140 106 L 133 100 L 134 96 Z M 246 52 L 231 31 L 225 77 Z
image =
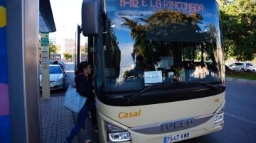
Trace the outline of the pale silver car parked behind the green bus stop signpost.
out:
M 64 74 L 61 67 L 58 64 L 50 64 L 49 65 L 50 71 L 50 90 L 56 89 L 64 89 Z M 40 88 L 42 88 L 42 72 L 41 68 L 39 69 L 40 73 Z

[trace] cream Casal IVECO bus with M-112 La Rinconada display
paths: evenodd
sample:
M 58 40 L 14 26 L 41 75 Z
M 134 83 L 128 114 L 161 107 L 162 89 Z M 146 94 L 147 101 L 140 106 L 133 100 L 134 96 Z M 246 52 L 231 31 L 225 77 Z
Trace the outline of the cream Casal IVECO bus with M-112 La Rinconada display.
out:
M 169 143 L 223 129 L 215 0 L 84 0 L 100 142 Z

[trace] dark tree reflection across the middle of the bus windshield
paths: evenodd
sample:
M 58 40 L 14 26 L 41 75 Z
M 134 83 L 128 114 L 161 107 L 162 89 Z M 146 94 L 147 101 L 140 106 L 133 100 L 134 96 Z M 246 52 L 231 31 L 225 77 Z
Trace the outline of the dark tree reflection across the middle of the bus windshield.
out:
M 186 47 L 189 50 L 186 56 L 190 61 L 201 59 L 201 67 L 206 67 L 203 55 L 207 52 L 213 61 L 207 68 L 215 71 L 216 74 L 221 71 L 221 67 L 217 67 L 220 65 L 217 64 L 219 61 L 215 59 L 218 29 L 214 23 L 203 23 L 203 16 L 200 13 L 186 14 L 180 11 L 161 10 L 156 11 L 149 18 L 139 18 L 139 20 L 122 18 L 125 21 L 122 26 L 127 26 L 131 30 L 130 35 L 134 40 L 132 57 L 135 67 L 129 73 L 124 73 L 125 76 L 127 74 L 137 76 L 143 71 L 155 69 L 161 55 L 166 55 L 170 48 L 176 53 L 172 68 L 178 73 L 184 67 L 182 62 L 185 61 L 185 57 L 182 53 Z M 143 24 L 139 21 L 143 21 Z M 208 30 L 202 30 L 199 24 L 205 25 Z

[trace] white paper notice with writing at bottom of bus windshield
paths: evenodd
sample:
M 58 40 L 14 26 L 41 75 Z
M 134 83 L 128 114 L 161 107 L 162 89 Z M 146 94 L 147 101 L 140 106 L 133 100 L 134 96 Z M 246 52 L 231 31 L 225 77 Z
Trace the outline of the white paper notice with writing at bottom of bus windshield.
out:
M 145 84 L 162 83 L 162 71 L 144 71 Z

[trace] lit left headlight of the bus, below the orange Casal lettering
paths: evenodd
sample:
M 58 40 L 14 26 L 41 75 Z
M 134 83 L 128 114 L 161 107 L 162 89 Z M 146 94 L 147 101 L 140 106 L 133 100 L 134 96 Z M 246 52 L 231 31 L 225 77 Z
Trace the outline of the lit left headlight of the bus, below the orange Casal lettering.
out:
M 107 130 L 108 142 L 127 142 L 132 140 L 131 134 L 121 127 L 117 127 L 109 122 L 106 122 L 105 128 Z

